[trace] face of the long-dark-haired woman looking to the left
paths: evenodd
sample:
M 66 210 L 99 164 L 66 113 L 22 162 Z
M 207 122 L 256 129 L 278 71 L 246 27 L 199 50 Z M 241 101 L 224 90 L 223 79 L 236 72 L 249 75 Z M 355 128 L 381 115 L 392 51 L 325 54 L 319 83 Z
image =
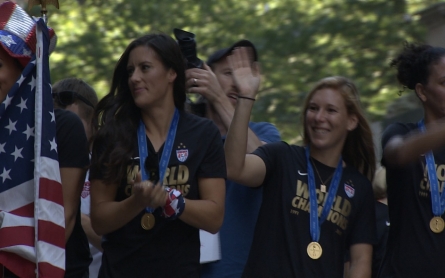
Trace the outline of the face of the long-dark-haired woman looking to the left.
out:
M 166 69 L 156 52 L 147 46 L 135 47 L 127 63 L 128 86 L 136 106 L 164 107 L 173 102 L 176 73 Z

